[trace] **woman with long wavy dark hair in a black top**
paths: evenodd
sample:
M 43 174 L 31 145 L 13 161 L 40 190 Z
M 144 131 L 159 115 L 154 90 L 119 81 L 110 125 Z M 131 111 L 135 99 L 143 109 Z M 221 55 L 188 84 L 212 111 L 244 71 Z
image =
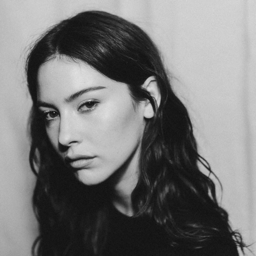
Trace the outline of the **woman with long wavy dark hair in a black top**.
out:
M 27 58 L 34 255 L 238 255 L 189 115 L 151 39 L 87 11 Z

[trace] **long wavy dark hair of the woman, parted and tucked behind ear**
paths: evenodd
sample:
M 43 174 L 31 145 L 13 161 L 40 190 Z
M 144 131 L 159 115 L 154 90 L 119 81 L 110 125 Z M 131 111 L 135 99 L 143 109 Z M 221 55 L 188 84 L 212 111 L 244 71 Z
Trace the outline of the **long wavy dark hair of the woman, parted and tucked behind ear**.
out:
M 201 248 L 221 238 L 242 248 L 240 234 L 231 230 L 226 211 L 218 205 L 212 171 L 198 154 L 189 115 L 171 89 L 157 47 L 138 26 L 105 12 L 86 11 L 51 27 L 27 58 L 33 100 L 30 163 L 37 175 L 33 205 L 40 224 L 34 255 L 101 255 L 106 241 L 111 188 L 107 181 L 81 184 L 67 170 L 36 107 L 38 69 L 62 55 L 126 83 L 135 102 L 149 99 L 154 107 L 142 139 L 141 175 L 132 193 L 135 217 L 152 218 L 173 247 Z M 159 107 L 141 87 L 152 75 L 161 92 Z

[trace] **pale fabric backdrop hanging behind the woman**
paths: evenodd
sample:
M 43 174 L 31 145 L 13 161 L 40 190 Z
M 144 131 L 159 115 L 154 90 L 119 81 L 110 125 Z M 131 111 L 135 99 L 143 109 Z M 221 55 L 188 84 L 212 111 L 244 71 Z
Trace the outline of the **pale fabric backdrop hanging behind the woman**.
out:
M 109 11 L 159 46 L 191 114 L 200 153 L 223 184 L 233 229 L 256 241 L 256 2 L 254 0 L 0 1 L 0 255 L 30 255 L 37 235 L 28 154 L 31 106 L 24 59 L 50 25 L 82 10 Z

